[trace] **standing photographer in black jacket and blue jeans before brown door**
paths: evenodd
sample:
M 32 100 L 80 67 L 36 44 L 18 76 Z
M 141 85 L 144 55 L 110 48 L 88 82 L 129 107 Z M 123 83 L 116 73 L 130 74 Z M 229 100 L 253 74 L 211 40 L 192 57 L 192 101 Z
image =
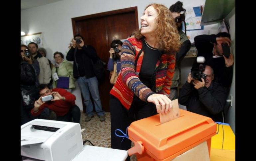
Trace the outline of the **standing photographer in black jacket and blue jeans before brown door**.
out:
M 93 106 L 90 100 L 90 93 L 95 105 L 95 111 L 98 114 L 100 121 L 105 121 L 104 111 L 102 110 L 98 80 L 93 72 L 93 62 L 97 59 L 95 49 L 91 45 L 84 45 L 84 39 L 81 35 L 75 35 L 72 40 L 72 47 L 66 55 L 68 61 L 73 63 L 73 76 L 77 79 L 78 86 L 82 93 L 84 104 L 86 106 L 85 121 L 90 121 L 93 117 Z

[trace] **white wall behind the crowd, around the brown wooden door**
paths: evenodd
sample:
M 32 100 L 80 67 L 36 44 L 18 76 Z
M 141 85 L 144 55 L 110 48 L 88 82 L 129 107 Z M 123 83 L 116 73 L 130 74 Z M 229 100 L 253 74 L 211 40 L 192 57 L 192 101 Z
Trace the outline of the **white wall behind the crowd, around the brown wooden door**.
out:
M 145 7 L 150 3 L 160 3 L 169 8 L 176 2 L 177 0 L 63 0 L 21 11 L 21 31 L 28 31 L 28 34 L 42 32 L 47 58 L 55 64 L 53 53 L 60 51 L 65 56 L 68 44 L 73 37 L 71 18 L 134 6 L 138 6 L 138 17 L 140 18 Z M 184 2 L 184 7 L 199 6 L 203 5 L 205 0 L 183 0 L 181 2 Z M 140 19 L 138 20 L 140 21 Z M 205 29 L 207 28 L 205 26 Z M 186 67 L 184 70 L 188 68 L 190 67 Z M 81 95 L 77 84 L 72 93 L 76 96 L 76 104 L 82 110 Z

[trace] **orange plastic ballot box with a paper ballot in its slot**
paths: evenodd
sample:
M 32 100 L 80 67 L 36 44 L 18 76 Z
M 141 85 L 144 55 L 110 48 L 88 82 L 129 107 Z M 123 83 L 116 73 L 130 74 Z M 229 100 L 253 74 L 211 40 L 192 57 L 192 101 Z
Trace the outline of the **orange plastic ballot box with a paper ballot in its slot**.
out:
M 128 154 L 136 153 L 138 161 L 170 161 L 206 141 L 210 155 L 216 123 L 211 118 L 179 110 L 179 118 L 163 124 L 159 114 L 132 122 L 128 136 L 135 146 Z

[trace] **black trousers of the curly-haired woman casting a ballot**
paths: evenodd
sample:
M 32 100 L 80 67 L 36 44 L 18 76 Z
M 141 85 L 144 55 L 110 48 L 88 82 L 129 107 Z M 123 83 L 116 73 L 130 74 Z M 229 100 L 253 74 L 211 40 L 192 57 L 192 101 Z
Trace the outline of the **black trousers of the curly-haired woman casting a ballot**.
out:
M 111 119 L 111 148 L 128 150 L 131 148 L 131 140 L 118 137 L 115 130 L 120 129 L 124 133 L 126 128 L 133 122 L 157 114 L 156 106 L 153 103 L 146 103 L 134 95 L 131 108 L 127 110 L 121 102 L 110 95 L 110 119 Z M 122 135 L 117 132 L 117 134 Z M 123 142 L 121 142 L 123 139 Z M 128 158 L 127 158 L 128 159 Z M 129 160 L 129 159 L 128 159 Z

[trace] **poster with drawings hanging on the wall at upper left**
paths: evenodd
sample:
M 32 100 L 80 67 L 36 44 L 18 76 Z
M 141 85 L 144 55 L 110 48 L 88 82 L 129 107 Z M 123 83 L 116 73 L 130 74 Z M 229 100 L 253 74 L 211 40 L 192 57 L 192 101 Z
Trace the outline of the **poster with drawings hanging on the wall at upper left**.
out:
M 39 48 L 43 47 L 42 33 L 21 36 L 21 44 L 28 46 L 30 42 L 37 43 Z

